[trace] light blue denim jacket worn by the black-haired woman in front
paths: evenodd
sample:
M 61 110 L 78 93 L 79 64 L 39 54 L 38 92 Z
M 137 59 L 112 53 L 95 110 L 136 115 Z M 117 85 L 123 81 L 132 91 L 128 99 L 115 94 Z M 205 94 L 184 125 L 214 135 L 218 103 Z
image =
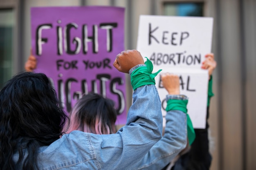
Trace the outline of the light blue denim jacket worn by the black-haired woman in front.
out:
M 162 137 L 161 102 L 155 85 L 133 93 L 126 126 L 111 135 L 73 131 L 38 151 L 40 170 L 126 170 Z M 27 155 L 26 148 L 24 148 Z M 18 153 L 13 155 L 18 161 Z

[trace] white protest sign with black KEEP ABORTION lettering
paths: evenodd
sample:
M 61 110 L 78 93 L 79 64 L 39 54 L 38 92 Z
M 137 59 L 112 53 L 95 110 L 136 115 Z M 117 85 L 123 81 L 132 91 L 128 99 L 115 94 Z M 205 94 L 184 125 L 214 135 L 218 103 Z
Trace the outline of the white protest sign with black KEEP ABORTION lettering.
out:
M 180 76 L 180 92 L 189 97 L 188 114 L 194 128 L 205 128 L 207 112 L 208 71 L 201 68 L 205 54 L 211 52 L 213 18 L 141 15 L 137 50 L 148 57 L 154 70 Z M 146 61 L 146 59 L 145 59 Z M 155 77 L 166 115 L 167 91 Z

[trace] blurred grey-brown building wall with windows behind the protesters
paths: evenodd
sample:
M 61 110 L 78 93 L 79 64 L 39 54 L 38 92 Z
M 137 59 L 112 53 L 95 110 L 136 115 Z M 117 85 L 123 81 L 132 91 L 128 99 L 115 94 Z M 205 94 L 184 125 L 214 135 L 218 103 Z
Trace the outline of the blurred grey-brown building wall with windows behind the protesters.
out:
M 88 5 L 126 8 L 126 49 L 136 49 L 141 14 L 213 17 L 218 65 L 209 118 L 211 170 L 256 169 L 256 0 L 0 0 L 0 88 L 24 70 L 30 7 Z

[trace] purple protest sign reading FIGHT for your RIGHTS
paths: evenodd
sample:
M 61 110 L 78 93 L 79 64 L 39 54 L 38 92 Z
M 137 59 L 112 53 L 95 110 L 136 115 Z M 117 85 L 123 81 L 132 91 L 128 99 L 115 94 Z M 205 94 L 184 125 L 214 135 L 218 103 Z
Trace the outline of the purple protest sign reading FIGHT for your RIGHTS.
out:
M 124 51 L 124 8 L 33 7 L 31 34 L 35 72 L 52 79 L 67 113 L 94 91 L 114 100 L 116 124 L 126 123 L 125 75 L 112 66 Z

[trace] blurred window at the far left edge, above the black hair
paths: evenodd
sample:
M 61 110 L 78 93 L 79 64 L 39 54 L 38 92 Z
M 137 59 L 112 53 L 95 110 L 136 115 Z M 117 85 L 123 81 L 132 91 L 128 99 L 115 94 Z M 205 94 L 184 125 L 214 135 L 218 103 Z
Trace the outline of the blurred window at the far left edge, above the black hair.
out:
M 0 9 L 0 89 L 12 76 L 14 13 Z

